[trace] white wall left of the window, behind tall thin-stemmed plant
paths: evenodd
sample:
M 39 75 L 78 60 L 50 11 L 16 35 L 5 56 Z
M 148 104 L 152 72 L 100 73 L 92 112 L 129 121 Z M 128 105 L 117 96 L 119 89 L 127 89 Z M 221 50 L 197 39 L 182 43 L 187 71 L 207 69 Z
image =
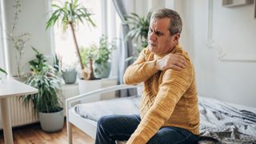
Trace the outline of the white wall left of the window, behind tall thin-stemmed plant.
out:
M 10 33 L 14 18 L 14 0 L 5 1 L 6 3 L 6 29 Z M 30 33 L 30 41 L 27 42 L 24 58 L 22 58 L 22 66 L 26 66 L 27 62 L 34 58 L 34 51 L 31 46 L 36 47 L 43 54 L 51 54 L 50 47 L 50 31 L 46 31 L 45 23 L 48 18 L 48 1 L 42 0 L 20 0 L 21 10 L 18 19 L 18 34 Z M 11 42 L 9 42 L 10 53 L 10 70 L 12 75 L 17 74 L 17 66 L 15 60 L 15 50 Z

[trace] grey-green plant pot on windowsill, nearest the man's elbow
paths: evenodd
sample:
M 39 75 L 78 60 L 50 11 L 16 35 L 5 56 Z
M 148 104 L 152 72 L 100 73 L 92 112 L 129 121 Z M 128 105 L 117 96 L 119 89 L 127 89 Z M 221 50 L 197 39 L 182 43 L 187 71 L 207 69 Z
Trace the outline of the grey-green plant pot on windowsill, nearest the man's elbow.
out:
M 94 64 L 94 74 L 96 78 L 108 78 L 110 76 L 111 63 Z

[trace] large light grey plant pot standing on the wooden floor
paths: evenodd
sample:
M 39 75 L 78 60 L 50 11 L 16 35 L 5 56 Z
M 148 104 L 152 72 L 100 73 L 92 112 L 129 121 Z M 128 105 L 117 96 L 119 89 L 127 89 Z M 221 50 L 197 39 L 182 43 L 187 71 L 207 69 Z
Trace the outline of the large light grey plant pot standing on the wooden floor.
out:
M 38 116 L 42 130 L 46 132 L 62 130 L 64 125 L 64 110 L 54 113 L 39 112 Z

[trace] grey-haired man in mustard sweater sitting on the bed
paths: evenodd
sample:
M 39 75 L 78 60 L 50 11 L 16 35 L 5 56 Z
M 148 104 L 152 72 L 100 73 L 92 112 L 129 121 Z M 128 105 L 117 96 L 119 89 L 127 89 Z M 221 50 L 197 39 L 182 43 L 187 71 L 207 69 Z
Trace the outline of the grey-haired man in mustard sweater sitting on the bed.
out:
M 199 111 L 194 67 L 178 45 L 181 32 L 182 20 L 174 10 L 152 14 L 149 46 L 124 75 L 126 84 L 144 84 L 141 114 L 101 118 L 96 143 L 197 143 Z

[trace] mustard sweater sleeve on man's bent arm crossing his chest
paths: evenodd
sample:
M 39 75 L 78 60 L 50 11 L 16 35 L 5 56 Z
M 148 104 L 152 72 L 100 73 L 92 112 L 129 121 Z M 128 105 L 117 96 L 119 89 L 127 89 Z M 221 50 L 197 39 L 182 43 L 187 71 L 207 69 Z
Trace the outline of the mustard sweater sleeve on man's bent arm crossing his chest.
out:
M 127 85 L 134 85 L 146 81 L 158 72 L 155 66 L 156 60 L 146 61 L 146 49 L 142 50 L 138 59 L 127 67 L 123 81 Z

